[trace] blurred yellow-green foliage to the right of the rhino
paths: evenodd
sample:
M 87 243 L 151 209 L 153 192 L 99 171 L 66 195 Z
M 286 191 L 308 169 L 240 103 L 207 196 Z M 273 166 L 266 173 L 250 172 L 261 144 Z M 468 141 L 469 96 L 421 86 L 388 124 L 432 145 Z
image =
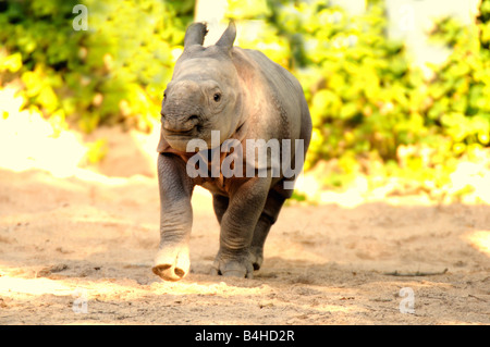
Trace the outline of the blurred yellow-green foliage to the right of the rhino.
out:
M 242 46 L 281 46 L 272 59 L 301 79 L 314 122 L 306 168 L 338 163 L 326 176 L 328 186 L 377 171 L 440 187 L 453 158 L 490 142 L 489 0 L 481 3 L 478 27 L 438 23 L 432 37 L 453 53 L 430 80 L 411 66 L 402 42 L 387 38 L 383 1 L 368 1 L 360 16 L 321 0 L 252 2 L 247 12 L 233 1 L 229 16 L 265 21 L 261 34 Z M 257 14 L 259 8 L 266 10 Z M 373 169 L 377 161 L 381 170 Z

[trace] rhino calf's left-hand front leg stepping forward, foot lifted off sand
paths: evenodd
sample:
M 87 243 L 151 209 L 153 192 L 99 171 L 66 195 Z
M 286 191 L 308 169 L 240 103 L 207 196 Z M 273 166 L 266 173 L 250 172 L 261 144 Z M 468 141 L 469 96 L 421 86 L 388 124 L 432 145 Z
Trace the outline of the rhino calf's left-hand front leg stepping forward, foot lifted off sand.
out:
M 185 163 L 172 154 L 159 154 L 160 246 L 152 271 L 163 280 L 179 281 L 189 270 L 188 240 L 193 225 L 191 205 L 194 184 Z

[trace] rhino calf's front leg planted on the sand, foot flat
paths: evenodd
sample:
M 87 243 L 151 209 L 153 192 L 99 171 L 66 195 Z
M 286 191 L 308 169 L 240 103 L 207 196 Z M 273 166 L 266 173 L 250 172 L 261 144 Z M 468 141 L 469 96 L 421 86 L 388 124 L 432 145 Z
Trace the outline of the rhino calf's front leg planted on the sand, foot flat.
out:
M 241 182 L 230 193 L 221 218 L 220 249 L 212 264 L 213 274 L 252 278 L 250 243 L 270 188 L 270 177 Z

